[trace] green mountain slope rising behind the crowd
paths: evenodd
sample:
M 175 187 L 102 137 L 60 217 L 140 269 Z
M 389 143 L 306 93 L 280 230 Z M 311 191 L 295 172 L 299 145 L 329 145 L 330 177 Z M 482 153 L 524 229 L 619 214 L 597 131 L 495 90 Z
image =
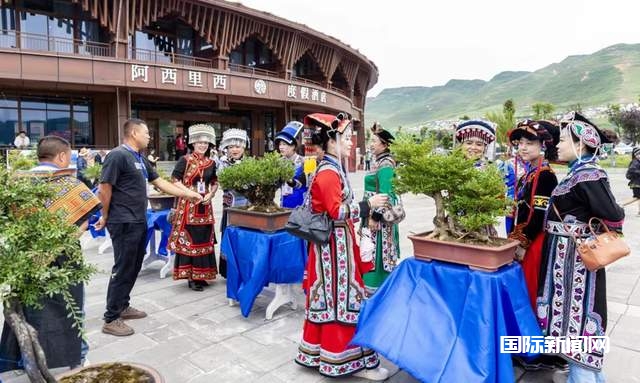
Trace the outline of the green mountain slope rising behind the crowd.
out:
M 368 121 L 383 126 L 416 126 L 426 121 L 481 117 L 515 102 L 518 115 L 536 102 L 550 102 L 558 111 L 634 102 L 640 94 L 640 44 L 618 44 L 590 55 L 569 56 L 534 72 L 502 72 L 489 81 L 450 80 L 433 87 L 383 90 L 367 98 Z

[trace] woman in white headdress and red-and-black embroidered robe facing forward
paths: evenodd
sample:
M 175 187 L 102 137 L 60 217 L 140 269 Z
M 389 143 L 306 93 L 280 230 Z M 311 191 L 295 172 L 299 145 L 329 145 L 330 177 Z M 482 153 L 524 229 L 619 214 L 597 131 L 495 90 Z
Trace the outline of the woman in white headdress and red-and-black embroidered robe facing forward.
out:
M 173 279 L 188 279 L 190 288 L 202 291 L 206 281 L 215 279 L 218 273 L 211 204 L 218 182 L 215 162 L 209 157 L 216 140 L 209 125 L 191 126 L 189 133 L 192 153 L 180 157 L 171 178 L 176 185 L 198 192 L 204 200 L 199 204 L 178 200 L 169 245 L 176 253 Z

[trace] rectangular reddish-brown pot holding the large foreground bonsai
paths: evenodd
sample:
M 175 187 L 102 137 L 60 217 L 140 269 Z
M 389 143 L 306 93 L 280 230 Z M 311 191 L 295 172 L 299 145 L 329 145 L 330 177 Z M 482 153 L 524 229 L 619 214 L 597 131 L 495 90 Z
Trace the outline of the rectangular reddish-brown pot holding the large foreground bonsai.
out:
M 409 236 L 416 258 L 458 263 L 483 271 L 496 271 L 513 262 L 519 244 L 518 241 L 507 240 L 507 243 L 499 246 L 471 245 L 427 238 L 428 234 Z

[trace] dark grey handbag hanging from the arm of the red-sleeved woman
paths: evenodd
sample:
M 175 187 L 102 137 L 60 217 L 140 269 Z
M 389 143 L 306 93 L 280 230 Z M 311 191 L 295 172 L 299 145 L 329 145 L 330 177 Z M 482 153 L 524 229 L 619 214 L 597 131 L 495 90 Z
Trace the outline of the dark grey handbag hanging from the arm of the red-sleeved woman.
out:
M 311 211 L 310 194 L 311 186 L 309 186 L 302 205 L 293 209 L 291 215 L 289 215 L 289 220 L 284 229 L 289 234 L 302 238 L 307 242 L 324 245 L 329 243 L 333 221 L 329 219 L 326 212 L 313 213 Z

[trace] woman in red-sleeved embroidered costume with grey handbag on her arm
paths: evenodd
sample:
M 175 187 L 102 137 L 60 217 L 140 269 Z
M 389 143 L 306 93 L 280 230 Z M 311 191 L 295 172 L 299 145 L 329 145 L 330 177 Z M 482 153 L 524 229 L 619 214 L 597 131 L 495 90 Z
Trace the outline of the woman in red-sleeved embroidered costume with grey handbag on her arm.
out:
M 310 114 L 305 124 L 315 128 L 312 142 L 325 151 L 311 181 L 311 209 L 326 213 L 333 228 L 329 243 L 309 246 L 303 282 L 307 291 L 304 330 L 295 361 L 330 377 L 354 374 L 384 380 L 388 371 L 378 367 L 378 355 L 350 343 L 364 300 L 362 274 L 373 266 L 360 259 L 353 221 L 368 216 L 371 208 L 383 206 L 387 197 L 376 195 L 360 203 L 354 200 L 341 163 L 352 146 L 351 121 L 345 115 Z

